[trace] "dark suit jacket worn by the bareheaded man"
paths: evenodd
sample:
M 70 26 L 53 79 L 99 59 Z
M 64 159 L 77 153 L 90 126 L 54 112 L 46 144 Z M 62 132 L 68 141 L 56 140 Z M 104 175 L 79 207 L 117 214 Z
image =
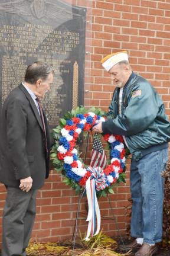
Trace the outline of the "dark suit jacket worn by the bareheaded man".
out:
M 1 114 L 0 181 L 19 187 L 22 178 L 31 176 L 32 188 L 42 187 L 49 175 L 50 133 L 44 114 L 45 135 L 37 106 L 25 87 L 20 84 L 10 92 Z

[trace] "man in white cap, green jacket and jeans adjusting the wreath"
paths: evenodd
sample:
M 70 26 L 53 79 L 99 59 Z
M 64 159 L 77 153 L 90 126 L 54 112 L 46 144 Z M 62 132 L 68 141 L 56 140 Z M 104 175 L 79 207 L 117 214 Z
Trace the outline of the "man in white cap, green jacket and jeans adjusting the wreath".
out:
M 132 194 L 131 236 L 125 249 L 139 249 L 135 256 L 152 256 L 162 239 L 164 170 L 168 160 L 170 123 L 165 106 L 152 85 L 132 71 L 125 50 L 101 61 L 116 85 L 108 114 L 112 119 L 93 127 L 96 133 L 122 135 L 132 153 L 130 191 Z

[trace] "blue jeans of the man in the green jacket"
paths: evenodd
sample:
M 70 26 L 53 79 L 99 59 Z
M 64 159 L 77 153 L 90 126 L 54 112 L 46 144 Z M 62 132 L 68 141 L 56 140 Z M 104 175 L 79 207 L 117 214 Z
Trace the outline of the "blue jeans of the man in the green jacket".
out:
M 155 244 L 162 240 L 162 213 L 164 204 L 164 178 L 161 171 L 168 161 L 168 149 L 143 156 L 132 157 L 130 191 L 132 195 L 131 236 Z

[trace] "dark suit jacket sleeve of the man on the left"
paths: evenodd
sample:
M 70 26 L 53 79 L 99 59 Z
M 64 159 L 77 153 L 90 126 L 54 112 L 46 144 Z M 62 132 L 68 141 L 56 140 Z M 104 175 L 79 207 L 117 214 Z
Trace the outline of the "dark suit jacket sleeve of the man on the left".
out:
M 6 110 L 6 134 L 9 159 L 12 162 L 16 180 L 29 177 L 31 174 L 26 151 L 27 113 L 24 105 L 16 99 L 8 103 Z

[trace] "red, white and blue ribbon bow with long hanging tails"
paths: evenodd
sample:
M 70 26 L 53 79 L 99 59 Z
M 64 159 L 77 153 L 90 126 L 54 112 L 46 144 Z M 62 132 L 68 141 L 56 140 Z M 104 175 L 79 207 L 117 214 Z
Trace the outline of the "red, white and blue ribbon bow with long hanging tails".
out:
M 87 228 L 87 235 L 85 240 L 89 240 L 89 236 L 97 235 L 100 231 L 100 223 L 101 223 L 101 215 L 99 204 L 97 201 L 96 190 L 103 190 L 107 187 L 107 178 L 104 175 L 103 169 L 101 167 L 96 168 L 87 168 L 88 171 L 91 172 L 91 176 L 86 181 L 86 194 L 87 201 L 89 206 L 88 216 L 86 221 L 89 221 L 89 225 Z M 97 219 L 97 229 L 96 229 L 96 219 Z M 94 233 L 94 231 L 96 232 Z

